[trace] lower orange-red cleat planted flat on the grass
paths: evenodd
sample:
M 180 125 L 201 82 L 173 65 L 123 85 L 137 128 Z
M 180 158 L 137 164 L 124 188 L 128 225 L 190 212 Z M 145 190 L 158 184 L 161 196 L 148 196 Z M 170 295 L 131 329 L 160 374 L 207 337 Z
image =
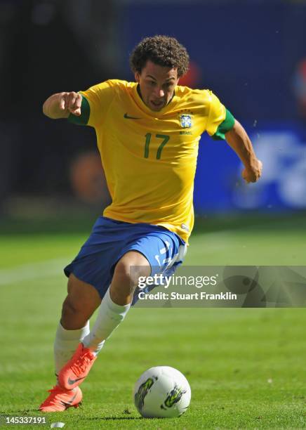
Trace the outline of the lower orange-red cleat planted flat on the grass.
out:
M 64 390 L 60 386 L 53 386 L 53 389 L 48 390 L 50 395 L 44 403 L 41 403 L 39 410 L 41 412 L 62 412 L 74 406 L 78 408 L 81 405 L 82 392 L 77 386 L 72 390 Z

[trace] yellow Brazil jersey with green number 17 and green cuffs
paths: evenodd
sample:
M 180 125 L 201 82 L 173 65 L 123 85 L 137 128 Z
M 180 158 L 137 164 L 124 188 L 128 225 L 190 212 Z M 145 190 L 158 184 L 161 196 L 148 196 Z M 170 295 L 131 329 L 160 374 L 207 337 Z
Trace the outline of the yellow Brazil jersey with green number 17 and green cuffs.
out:
M 224 138 L 230 112 L 211 91 L 186 86 L 176 86 L 159 112 L 143 103 L 135 82 L 112 79 L 80 93 L 81 117 L 69 120 L 95 128 L 112 197 L 103 215 L 163 226 L 187 242 L 199 139 L 204 131 Z

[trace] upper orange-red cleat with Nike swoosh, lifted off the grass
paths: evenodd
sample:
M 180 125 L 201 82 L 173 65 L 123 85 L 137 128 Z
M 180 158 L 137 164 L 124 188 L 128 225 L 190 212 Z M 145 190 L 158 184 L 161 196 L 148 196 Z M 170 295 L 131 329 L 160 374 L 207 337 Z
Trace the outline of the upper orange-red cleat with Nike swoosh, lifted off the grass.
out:
M 74 356 L 60 370 L 58 384 L 66 390 L 71 390 L 81 384 L 88 375 L 89 370 L 91 370 L 91 366 L 95 363 L 96 358 L 97 356 L 89 348 L 85 348 L 83 344 L 79 344 Z

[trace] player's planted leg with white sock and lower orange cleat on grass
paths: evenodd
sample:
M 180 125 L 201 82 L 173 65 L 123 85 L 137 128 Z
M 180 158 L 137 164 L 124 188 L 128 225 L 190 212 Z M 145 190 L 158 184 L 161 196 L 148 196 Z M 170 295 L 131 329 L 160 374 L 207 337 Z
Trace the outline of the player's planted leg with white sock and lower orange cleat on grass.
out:
M 55 373 L 72 357 L 80 341 L 89 333 L 89 318 L 100 305 L 101 299 L 97 290 L 73 274 L 68 280 L 68 294 L 62 305 L 62 318 L 58 325 L 54 343 Z M 60 412 L 74 406 L 77 408 L 82 400 L 79 387 L 63 389 L 55 385 L 41 404 L 42 412 Z

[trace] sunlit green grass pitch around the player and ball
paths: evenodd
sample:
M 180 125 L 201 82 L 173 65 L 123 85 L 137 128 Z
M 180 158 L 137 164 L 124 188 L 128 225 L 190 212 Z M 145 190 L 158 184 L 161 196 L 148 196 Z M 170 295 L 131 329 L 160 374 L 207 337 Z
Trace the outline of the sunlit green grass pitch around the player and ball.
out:
M 305 265 L 305 221 L 192 236 L 188 265 Z M 39 415 L 54 383 L 53 337 L 65 297 L 62 266 L 85 233 L 0 235 L 0 415 Z M 305 308 L 132 309 L 82 384 L 79 409 L 46 415 L 65 429 L 293 429 L 306 426 Z M 171 365 L 192 388 L 178 419 L 142 419 L 133 385 Z

